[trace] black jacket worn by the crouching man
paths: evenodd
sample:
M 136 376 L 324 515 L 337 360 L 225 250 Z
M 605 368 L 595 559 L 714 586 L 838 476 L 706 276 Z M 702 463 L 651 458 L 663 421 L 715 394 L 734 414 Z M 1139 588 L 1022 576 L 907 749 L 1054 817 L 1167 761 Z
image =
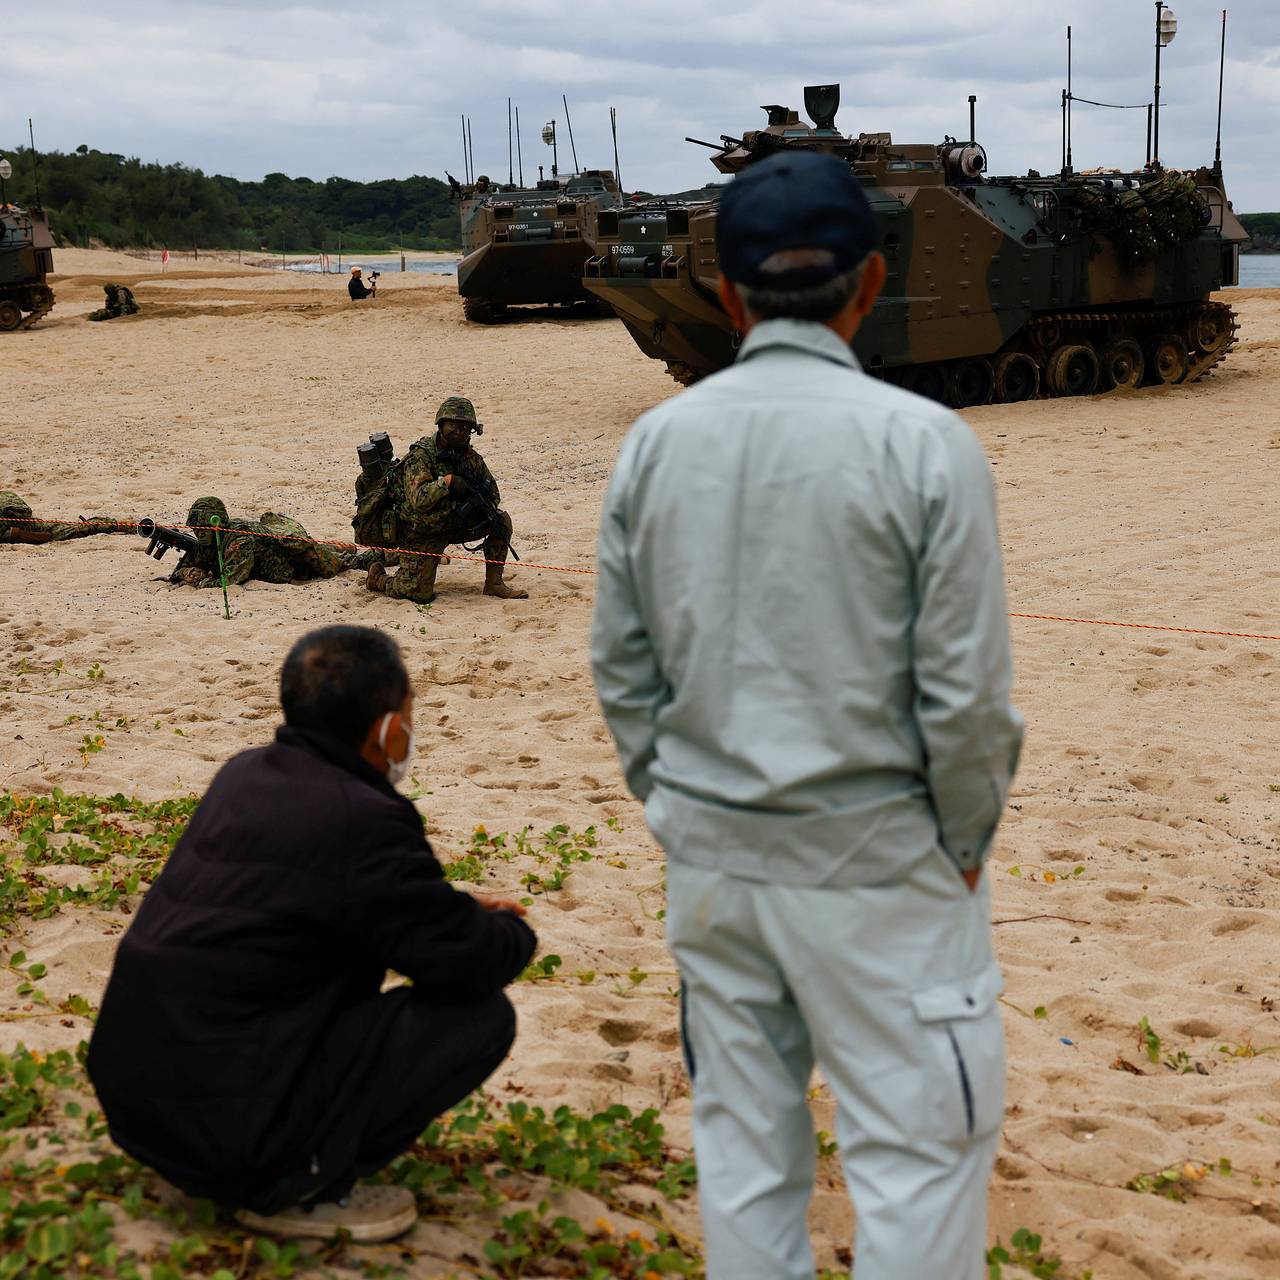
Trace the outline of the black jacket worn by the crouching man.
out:
M 535 945 L 444 879 L 378 771 L 280 728 L 219 771 L 120 941 L 88 1053 L 111 1135 L 192 1194 L 251 1203 L 358 1100 L 388 969 L 463 1004 Z

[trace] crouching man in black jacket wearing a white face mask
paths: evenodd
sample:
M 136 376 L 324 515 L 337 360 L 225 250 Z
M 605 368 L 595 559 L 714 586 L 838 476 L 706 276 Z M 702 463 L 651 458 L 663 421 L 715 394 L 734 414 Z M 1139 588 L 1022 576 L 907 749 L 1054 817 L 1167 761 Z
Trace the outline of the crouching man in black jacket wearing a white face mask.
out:
M 394 783 L 413 692 L 367 627 L 303 636 L 284 726 L 214 778 L 115 955 L 88 1053 L 111 1137 L 279 1235 L 383 1240 L 412 1196 L 356 1185 L 507 1056 L 536 938 L 454 890 Z M 381 992 L 387 970 L 412 986 Z

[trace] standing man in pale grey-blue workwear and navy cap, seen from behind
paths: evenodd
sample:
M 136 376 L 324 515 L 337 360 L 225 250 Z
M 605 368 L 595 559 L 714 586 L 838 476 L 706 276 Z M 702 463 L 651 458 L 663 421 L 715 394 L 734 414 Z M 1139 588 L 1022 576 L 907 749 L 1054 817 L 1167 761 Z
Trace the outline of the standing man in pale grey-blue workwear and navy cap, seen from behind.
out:
M 865 375 L 861 186 L 719 209 L 736 364 L 645 413 L 600 526 L 596 689 L 667 851 L 709 1280 L 813 1280 L 820 1066 L 858 1280 L 978 1280 L 1004 1108 L 983 859 L 1021 742 L 986 456 Z

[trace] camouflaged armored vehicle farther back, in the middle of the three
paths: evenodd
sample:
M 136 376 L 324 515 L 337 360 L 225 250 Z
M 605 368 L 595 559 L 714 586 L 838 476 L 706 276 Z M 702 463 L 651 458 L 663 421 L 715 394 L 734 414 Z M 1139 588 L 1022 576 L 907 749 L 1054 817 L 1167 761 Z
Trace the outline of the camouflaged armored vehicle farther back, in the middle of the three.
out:
M 458 293 L 468 320 L 493 324 L 508 307 L 591 302 L 582 268 L 595 252 L 584 232 L 621 192 L 608 169 L 547 178 L 532 188 L 498 187 L 480 177 L 457 187 L 462 261 Z

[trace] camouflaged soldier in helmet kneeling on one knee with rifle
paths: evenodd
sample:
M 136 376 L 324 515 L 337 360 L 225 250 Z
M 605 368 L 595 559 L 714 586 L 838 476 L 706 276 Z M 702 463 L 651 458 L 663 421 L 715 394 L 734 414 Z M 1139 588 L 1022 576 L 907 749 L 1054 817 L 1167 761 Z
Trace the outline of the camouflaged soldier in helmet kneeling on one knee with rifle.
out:
M 471 448 L 472 433 L 484 430 L 476 422 L 475 406 L 463 396 L 451 396 L 435 411 L 435 435 L 422 436 L 404 457 L 398 511 L 401 549 L 425 554 L 402 556 L 399 570 L 390 577 L 375 562 L 365 585 L 397 600 L 429 604 L 435 598 L 435 571 L 445 549 L 483 539 L 484 594 L 526 599 L 529 593 L 506 582 L 502 573 L 511 550 L 511 516 L 498 511 L 495 522 L 479 511 L 481 504 L 497 508 L 502 499 L 484 458 Z

